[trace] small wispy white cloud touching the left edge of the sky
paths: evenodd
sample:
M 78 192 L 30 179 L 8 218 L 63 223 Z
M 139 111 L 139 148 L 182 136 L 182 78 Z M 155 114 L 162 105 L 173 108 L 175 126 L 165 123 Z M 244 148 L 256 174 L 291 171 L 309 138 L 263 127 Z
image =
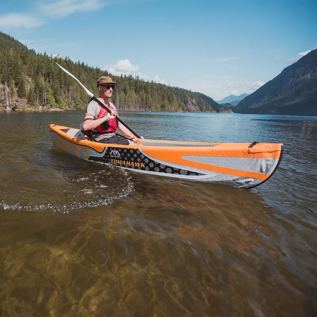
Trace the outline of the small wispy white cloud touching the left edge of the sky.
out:
M 0 16 L 0 27 L 33 28 L 44 24 L 44 21 L 28 14 L 9 13 Z

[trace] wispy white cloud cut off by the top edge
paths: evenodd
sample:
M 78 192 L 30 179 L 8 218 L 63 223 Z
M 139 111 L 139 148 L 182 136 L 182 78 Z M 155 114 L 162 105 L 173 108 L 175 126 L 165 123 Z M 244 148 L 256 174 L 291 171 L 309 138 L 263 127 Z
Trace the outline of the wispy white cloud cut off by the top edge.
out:
M 97 10 L 106 5 L 102 0 L 51 0 L 39 2 L 39 9 L 43 14 L 54 18 L 61 18 L 75 12 Z

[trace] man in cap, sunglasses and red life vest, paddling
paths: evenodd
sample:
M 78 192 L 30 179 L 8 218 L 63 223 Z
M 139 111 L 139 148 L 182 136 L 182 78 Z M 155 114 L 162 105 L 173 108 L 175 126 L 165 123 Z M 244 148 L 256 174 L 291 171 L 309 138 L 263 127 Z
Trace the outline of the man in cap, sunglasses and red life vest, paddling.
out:
M 109 108 L 111 114 L 96 101 L 91 100 L 85 112 L 83 130 L 91 133 L 90 141 L 129 145 L 129 141 L 126 138 L 119 137 L 114 133 L 118 129 L 129 138 L 137 138 L 115 118 L 117 110 L 109 102 L 115 85 L 116 82 L 112 81 L 109 76 L 102 76 L 98 79 L 97 88 L 100 93 L 98 99 Z

